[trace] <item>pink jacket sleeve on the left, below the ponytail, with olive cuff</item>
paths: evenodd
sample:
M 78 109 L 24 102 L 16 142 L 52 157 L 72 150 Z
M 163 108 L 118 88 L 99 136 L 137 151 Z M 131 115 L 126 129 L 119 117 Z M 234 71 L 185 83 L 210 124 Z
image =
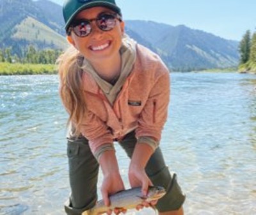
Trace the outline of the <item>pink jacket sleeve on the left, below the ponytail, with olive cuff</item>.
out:
M 88 139 L 92 153 L 98 161 L 100 155 L 106 150 L 115 150 L 113 135 L 108 126 L 91 111 L 88 111 L 86 116 L 84 116 L 81 134 Z

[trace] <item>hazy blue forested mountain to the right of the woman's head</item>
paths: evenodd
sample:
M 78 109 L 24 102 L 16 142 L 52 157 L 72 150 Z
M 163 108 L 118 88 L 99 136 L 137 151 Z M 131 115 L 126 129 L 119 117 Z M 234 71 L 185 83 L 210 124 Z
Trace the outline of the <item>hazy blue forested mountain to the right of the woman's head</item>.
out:
M 238 42 L 186 26 L 128 21 L 128 28 L 150 41 L 169 67 L 177 70 L 236 67 Z M 137 31 L 137 32 L 138 32 Z

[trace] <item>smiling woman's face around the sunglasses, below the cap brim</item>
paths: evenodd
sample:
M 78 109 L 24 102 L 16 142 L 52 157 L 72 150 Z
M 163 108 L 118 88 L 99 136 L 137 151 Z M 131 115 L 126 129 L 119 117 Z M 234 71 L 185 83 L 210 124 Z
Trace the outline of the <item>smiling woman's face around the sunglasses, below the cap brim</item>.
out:
M 95 7 L 83 10 L 77 14 L 75 19 L 95 19 L 102 12 L 113 13 L 108 8 Z M 100 63 L 102 60 L 111 60 L 116 57 L 122 44 L 124 22 L 116 20 L 116 26 L 110 31 L 102 31 L 95 21 L 91 24 L 92 32 L 88 36 L 79 37 L 71 31 L 71 35 L 67 36 L 68 42 L 92 63 Z

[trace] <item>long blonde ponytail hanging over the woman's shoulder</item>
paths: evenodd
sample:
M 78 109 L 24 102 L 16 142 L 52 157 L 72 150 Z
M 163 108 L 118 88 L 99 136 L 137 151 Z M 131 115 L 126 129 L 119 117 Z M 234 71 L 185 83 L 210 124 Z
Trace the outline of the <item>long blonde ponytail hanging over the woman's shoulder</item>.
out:
M 79 135 L 86 110 L 83 94 L 83 56 L 71 45 L 56 61 L 60 76 L 60 97 L 68 112 L 67 124 L 72 123 L 75 135 Z

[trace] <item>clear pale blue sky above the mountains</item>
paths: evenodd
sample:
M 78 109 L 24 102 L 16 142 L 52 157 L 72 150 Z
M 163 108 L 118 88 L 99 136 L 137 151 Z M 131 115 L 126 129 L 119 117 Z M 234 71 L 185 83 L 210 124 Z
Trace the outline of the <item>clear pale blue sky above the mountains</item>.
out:
M 51 0 L 60 5 L 63 0 Z M 229 40 L 256 31 L 256 0 L 116 0 L 124 20 L 151 20 Z

